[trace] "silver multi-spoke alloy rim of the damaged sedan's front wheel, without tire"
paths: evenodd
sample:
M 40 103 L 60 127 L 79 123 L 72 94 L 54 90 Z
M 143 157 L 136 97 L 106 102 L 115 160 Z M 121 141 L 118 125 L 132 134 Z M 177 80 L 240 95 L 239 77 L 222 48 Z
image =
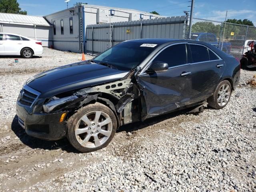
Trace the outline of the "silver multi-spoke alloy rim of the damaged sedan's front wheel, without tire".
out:
M 76 125 L 76 140 L 86 148 L 99 147 L 110 137 L 112 126 L 112 120 L 105 112 L 88 112 Z

